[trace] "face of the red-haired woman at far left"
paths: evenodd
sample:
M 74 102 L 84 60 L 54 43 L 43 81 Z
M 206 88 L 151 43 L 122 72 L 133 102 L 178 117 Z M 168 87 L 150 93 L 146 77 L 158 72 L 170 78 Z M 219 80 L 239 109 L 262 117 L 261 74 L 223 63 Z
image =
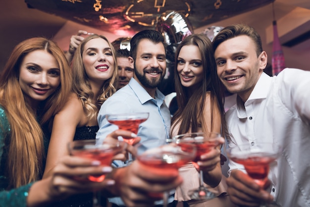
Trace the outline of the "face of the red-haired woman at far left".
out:
M 29 104 L 36 107 L 51 96 L 60 84 L 57 60 L 44 50 L 29 52 L 21 62 L 18 81 Z

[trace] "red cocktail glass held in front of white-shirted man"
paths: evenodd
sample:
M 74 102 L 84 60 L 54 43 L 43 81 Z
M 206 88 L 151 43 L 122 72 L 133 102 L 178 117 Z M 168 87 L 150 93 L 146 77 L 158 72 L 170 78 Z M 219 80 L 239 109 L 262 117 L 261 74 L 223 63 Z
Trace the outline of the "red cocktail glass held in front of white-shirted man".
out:
M 226 150 L 230 160 L 242 164 L 248 175 L 263 189 L 268 180 L 269 165 L 280 155 L 281 147 L 272 142 L 256 142 L 236 145 Z M 271 204 L 261 203 L 260 207 L 277 207 L 275 202 Z

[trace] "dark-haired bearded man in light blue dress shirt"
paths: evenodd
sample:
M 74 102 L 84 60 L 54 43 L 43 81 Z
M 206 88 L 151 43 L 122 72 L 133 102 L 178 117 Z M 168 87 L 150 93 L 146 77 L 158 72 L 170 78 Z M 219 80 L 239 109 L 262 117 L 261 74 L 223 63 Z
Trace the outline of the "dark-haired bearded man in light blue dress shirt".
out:
M 166 143 L 170 130 L 170 112 L 164 103 L 165 96 L 157 89 L 166 72 L 164 39 L 155 30 L 144 30 L 131 39 L 130 46 L 133 78 L 101 106 L 96 139 L 102 142 L 107 134 L 118 128 L 107 122 L 106 114 L 149 112 L 149 118 L 140 124 L 137 135 L 146 149 L 158 147 Z M 117 163 L 119 166 L 123 164 Z

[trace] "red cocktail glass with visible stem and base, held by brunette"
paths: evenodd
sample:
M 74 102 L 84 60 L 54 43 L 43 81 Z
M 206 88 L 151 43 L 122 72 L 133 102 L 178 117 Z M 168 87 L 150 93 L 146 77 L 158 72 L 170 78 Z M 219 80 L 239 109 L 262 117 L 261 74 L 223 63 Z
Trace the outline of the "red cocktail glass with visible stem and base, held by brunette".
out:
M 192 143 L 197 148 L 197 154 L 192 161 L 196 169 L 199 169 L 199 165 L 197 164 L 197 161 L 200 160 L 200 156 L 203 154 L 208 153 L 213 148 L 217 147 L 219 145 L 219 142 L 217 138 L 221 137 L 220 134 L 215 132 L 210 133 L 203 133 L 203 132 L 194 132 L 194 133 L 188 133 L 188 134 L 181 134 L 174 136 L 172 140 L 175 140 L 176 142 L 187 142 Z M 213 188 L 207 188 L 204 186 L 204 172 L 203 170 L 199 171 L 199 188 L 191 190 L 189 192 L 190 197 L 192 200 L 197 201 L 207 201 L 210 199 L 213 199 L 216 197 L 216 193 L 218 193 Z

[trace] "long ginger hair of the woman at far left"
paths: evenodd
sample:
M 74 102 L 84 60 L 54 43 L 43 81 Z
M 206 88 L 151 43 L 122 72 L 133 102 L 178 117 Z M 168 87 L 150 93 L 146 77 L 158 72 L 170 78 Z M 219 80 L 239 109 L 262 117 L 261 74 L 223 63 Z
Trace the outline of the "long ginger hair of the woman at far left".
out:
M 58 62 L 60 84 L 40 103 L 38 113 L 27 103 L 18 77 L 23 58 L 36 50 L 51 53 Z M 8 188 L 16 188 L 39 179 L 45 157 L 42 125 L 51 121 L 65 104 L 71 91 L 72 74 L 62 50 L 46 38 L 31 38 L 19 43 L 9 56 L 0 77 L 0 105 L 10 124 L 5 138 L 7 148 L 6 176 Z

